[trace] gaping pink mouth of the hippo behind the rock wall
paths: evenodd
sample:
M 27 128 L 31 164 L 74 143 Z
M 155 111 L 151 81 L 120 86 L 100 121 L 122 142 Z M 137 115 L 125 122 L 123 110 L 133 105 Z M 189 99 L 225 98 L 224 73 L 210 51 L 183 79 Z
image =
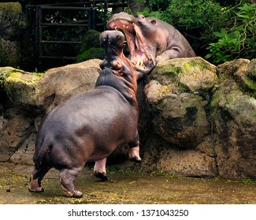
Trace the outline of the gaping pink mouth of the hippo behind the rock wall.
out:
M 109 29 L 124 31 L 131 53 L 131 61 L 139 72 L 148 73 L 155 66 L 155 57 L 150 53 L 145 37 L 140 31 L 135 16 L 128 13 L 114 14 L 107 23 Z

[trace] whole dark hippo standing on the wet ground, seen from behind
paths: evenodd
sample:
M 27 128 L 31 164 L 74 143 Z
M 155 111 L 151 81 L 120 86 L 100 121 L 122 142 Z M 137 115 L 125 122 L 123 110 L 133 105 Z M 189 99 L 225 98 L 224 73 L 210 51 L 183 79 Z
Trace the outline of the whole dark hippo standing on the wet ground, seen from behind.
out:
M 131 158 L 139 158 L 137 76 L 123 54 L 124 35 L 104 31 L 100 39 L 108 54 L 95 89 L 54 108 L 39 125 L 28 187 L 32 192 L 43 192 L 41 181 L 54 167 L 64 194 L 80 198 L 83 193 L 74 181 L 86 163 L 104 160 L 124 144 L 132 149 Z

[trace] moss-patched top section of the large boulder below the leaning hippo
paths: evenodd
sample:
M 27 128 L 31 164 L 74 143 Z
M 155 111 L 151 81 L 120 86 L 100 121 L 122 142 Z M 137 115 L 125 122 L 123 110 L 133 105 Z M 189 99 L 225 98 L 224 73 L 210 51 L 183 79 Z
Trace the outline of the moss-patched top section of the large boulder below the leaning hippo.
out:
M 217 68 L 202 57 L 177 58 L 160 62 L 150 78 L 161 85 L 172 85 L 176 94 L 207 92 L 217 83 Z

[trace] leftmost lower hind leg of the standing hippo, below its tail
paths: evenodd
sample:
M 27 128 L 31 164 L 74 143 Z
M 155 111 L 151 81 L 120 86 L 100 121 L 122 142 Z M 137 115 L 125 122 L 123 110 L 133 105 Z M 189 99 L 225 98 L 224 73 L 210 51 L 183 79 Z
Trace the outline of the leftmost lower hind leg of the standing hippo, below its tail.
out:
M 50 167 L 39 167 L 32 172 L 30 177 L 28 190 L 30 192 L 43 192 L 43 187 L 41 186 L 41 181 L 44 175 L 50 170 Z

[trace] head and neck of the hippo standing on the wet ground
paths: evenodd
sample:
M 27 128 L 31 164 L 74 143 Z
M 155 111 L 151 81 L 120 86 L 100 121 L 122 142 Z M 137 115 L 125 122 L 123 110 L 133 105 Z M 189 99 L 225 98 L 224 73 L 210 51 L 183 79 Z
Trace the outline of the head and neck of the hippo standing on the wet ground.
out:
M 103 31 L 100 43 L 106 49 L 106 56 L 100 64 L 102 72 L 95 86 L 112 86 L 135 105 L 139 75 L 132 62 L 124 56 L 124 34 L 121 31 Z

